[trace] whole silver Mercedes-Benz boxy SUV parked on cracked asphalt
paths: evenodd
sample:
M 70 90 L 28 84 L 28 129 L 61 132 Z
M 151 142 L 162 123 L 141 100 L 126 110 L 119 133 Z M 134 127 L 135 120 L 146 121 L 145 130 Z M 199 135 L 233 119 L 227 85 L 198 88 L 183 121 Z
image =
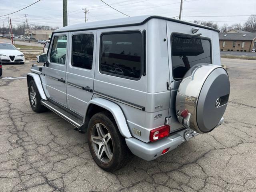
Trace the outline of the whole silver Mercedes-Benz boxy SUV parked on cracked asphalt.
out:
M 230 83 L 218 32 L 160 16 L 60 28 L 27 74 L 31 108 L 87 132 L 104 170 L 130 153 L 158 158 L 223 122 Z

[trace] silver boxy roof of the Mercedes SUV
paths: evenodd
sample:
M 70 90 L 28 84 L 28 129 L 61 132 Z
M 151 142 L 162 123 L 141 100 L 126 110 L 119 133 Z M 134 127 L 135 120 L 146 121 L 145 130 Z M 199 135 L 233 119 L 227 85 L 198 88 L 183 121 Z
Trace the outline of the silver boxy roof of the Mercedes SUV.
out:
M 54 31 L 56 32 L 69 32 L 69 31 L 81 31 L 81 30 L 92 30 L 92 29 L 100 29 L 100 28 L 113 28 L 113 27 L 122 27 L 122 26 L 136 26 L 145 23 L 146 21 L 150 20 L 151 18 L 159 18 L 164 20 L 169 20 L 172 22 L 178 22 L 182 24 L 187 24 L 195 27 L 205 28 L 209 30 L 214 30 L 216 32 L 220 32 L 214 28 L 210 28 L 207 26 L 185 22 L 182 20 L 177 20 L 173 18 L 167 18 L 162 16 L 154 16 L 154 15 L 143 15 L 143 16 L 135 16 L 135 17 L 127 17 L 127 18 L 118 18 L 118 19 L 111 19 L 111 20 L 102 20 L 96 22 L 87 22 L 87 23 L 80 23 L 74 24 L 66 27 L 59 28 Z

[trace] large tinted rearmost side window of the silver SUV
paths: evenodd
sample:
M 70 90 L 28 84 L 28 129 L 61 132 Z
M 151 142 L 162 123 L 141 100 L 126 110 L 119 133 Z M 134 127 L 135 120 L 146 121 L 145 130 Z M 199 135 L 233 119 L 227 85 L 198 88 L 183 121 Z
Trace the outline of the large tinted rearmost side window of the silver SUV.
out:
M 101 37 L 100 71 L 138 79 L 141 75 L 142 36 L 140 33 L 104 34 Z

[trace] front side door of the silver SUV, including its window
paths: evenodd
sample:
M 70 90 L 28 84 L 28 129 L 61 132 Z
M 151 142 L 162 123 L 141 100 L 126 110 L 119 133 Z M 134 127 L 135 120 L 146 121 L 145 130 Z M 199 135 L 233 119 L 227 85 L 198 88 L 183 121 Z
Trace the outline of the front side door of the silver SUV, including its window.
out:
M 66 63 L 68 33 L 57 33 L 52 37 L 48 52 L 43 86 L 46 96 L 67 107 L 66 100 Z

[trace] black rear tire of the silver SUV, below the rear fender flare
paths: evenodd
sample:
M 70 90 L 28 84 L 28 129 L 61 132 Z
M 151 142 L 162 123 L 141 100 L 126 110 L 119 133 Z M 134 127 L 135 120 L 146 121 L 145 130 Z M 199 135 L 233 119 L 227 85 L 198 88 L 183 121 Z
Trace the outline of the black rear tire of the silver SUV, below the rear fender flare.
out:
M 112 159 L 109 162 L 103 162 L 100 160 L 94 151 L 96 144 L 92 142 L 92 136 L 95 136 L 93 130 L 95 129 L 96 124 L 104 125 L 104 127 L 107 129 L 106 132 L 108 131 L 110 133 L 112 140 Z M 109 112 L 99 112 L 92 116 L 88 125 L 87 135 L 88 145 L 92 154 L 92 158 L 102 169 L 113 172 L 114 170 L 122 168 L 122 166 L 127 164 L 127 162 L 130 160 L 132 153 L 126 146 L 125 139 L 120 134 L 114 117 Z

